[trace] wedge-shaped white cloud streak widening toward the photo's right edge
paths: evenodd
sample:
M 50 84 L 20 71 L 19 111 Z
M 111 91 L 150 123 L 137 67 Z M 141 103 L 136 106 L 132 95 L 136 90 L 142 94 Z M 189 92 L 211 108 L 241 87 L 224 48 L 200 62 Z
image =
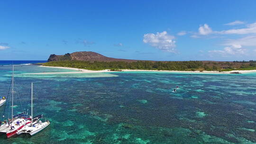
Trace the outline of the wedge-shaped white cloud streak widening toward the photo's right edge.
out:
M 219 34 L 256 34 L 256 23 L 248 24 L 246 28 L 229 29 L 217 32 Z

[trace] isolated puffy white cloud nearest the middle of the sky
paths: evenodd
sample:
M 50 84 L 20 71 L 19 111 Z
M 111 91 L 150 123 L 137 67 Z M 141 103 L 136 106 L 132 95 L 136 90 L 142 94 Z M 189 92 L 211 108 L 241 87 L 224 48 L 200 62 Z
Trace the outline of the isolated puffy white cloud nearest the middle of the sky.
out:
M 155 48 L 175 53 L 174 48 L 176 45 L 174 38 L 174 36 L 168 35 L 166 31 L 163 31 L 162 33 L 145 34 L 143 42 Z

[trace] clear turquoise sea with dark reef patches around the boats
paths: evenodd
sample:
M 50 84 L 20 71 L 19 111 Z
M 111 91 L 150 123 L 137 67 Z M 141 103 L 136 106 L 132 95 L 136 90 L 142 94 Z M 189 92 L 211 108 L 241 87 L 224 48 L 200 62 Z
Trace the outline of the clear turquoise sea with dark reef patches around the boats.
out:
M 9 89 L 10 70 L 0 66 L 0 95 Z M 256 73 L 15 70 L 23 109 L 33 81 L 34 114 L 51 125 L 32 137 L 0 135 L 0 144 L 256 144 Z

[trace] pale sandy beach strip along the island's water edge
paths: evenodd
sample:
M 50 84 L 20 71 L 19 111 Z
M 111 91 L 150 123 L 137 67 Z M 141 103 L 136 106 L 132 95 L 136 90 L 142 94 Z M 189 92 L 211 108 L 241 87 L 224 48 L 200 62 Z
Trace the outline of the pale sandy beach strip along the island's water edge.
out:
M 109 69 L 100 70 L 100 71 L 92 71 L 92 70 L 85 70 L 85 69 L 78 69 L 78 68 L 69 68 L 69 67 L 57 67 L 57 66 L 43 66 L 41 67 L 50 67 L 50 68 L 59 68 L 59 69 L 69 69 L 74 70 L 77 72 L 39 72 L 39 73 L 30 73 L 30 74 L 61 74 L 61 73 L 95 73 L 95 72 L 180 72 L 180 73 L 208 73 L 208 74 L 231 74 L 230 72 L 239 72 L 239 73 L 249 73 L 249 72 L 256 72 L 256 70 L 235 70 L 235 71 L 228 71 L 228 72 L 219 72 L 219 71 L 164 71 L 164 70 L 128 70 L 124 69 L 122 71 L 110 71 Z

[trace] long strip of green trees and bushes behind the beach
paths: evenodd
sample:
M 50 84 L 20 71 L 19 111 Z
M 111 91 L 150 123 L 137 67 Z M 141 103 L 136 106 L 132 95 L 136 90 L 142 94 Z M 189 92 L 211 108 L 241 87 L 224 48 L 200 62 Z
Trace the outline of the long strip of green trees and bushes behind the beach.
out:
M 99 62 L 99 61 L 52 61 L 43 63 L 44 66 L 71 67 L 87 70 L 168 70 L 168 71 L 232 71 L 232 70 L 256 70 L 256 61 L 234 61 L 234 62 L 213 62 L 213 61 L 136 61 L 136 62 Z

